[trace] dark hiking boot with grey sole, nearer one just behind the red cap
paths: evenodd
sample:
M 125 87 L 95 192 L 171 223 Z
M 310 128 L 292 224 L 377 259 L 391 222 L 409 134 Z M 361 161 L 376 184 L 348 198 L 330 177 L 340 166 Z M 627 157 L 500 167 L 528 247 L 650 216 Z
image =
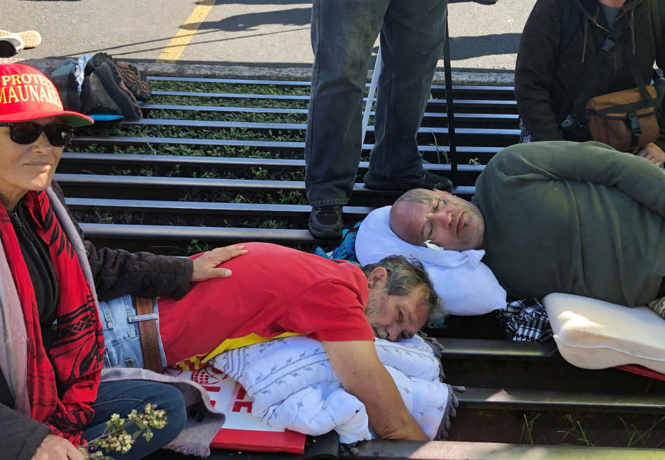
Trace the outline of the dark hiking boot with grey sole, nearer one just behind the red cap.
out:
M 136 98 L 123 83 L 120 74 L 104 62 L 85 78 L 81 89 L 81 105 L 85 113 L 111 113 L 126 119 L 141 118 Z

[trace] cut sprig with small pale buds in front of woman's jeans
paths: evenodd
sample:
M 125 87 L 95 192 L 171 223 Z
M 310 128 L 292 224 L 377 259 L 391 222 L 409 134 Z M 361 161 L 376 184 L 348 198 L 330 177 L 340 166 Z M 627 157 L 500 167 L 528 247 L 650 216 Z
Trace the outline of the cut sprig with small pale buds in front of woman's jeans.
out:
M 132 434 L 127 432 L 127 428 L 136 425 L 137 431 Z M 139 414 L 136 409 L 132 409 L 127 416 L 127 420 L 120 418 L 118 414 L 113 414 L 110 420 L 107 420 L 104 432 L 80 445 L 78 450 L 86 459 L 95 460 L 113 460 L 112 457 L 103 454 L 117 452 L 126 454 L 132 448 L 134 442 L 143 436 L 146 442 L 153 438 L 153 429 L 162 429 L 166 426 L 166 411 L 157 410 L 156 404 L 146 404 L 144 411 Z

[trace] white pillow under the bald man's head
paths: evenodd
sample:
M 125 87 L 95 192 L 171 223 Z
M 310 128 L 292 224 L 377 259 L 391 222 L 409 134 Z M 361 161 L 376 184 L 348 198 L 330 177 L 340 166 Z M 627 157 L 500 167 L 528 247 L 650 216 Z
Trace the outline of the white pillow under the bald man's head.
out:
M 390 230 L 390 206 L 370 212 L 356 236 L 356 257 L 362 265 L 387 255 L 420 260 L 446 313 L 481 315 L 506 308 L 506 291 L 481 262 L 484 250 L 435 250 L 407 243 Z

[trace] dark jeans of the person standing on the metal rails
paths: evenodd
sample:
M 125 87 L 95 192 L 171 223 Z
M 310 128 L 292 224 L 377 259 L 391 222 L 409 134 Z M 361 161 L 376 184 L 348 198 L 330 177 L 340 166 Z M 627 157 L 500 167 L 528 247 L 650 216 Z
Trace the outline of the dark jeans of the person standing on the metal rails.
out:
M 305 141 L 310 205 L 345 205 L 353 191 L 363 92 L 379 31 L 383 65 L 370 171 L 386 178 L 422 171 L 416 135 L 443 51 L 446 9 L 447 0 L 313 0 Z

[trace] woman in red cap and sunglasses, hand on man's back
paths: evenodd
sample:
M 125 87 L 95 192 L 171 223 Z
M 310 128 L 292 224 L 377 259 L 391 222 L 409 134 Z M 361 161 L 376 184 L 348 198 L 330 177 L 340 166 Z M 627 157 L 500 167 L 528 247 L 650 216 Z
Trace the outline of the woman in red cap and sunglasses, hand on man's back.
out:
M 83 459 L 76 446 L 101 434 L 111 414 L 143 411 L 146 402 L 166 410 L 166 427 L 117 458 L 140 459 L 178 436 L 187 415 L 173 386 L 100 383 L 105 355 L 96 304 L 127 293 L 178 297 L 191 280 L 227 276 L 213 268 L 230 258 L 227 252 L 193 262 L 96 250 L 83 240 L 52 180 L 72 129 L 92 122 L 63 110 L 53 83 L 37 69 L 0 65 L 3 459 Z

